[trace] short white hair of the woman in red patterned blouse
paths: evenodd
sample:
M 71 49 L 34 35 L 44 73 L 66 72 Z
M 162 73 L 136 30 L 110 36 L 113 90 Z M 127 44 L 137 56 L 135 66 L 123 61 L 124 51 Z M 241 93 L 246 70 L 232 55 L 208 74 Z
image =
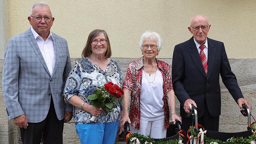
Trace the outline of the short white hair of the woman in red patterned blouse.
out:
M 156 32 L 151 32 L 151 31 L 145 31 L 140 38 L 140 49 L 142 50 L 142 45 L 143 45 L 143 41 L 145 39 L 155 39 L 157 42 L 157 50 L 160 51 L 162 48 L 162 38 L 161 36 L 156 33 Z

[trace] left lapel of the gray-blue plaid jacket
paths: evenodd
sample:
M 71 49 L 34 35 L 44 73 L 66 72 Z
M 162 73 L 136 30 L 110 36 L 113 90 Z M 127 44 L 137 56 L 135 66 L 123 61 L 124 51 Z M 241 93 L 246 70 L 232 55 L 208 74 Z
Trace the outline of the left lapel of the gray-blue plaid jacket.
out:
M 38 47 L 38 45 L 36 43 L 36 39 L 35 39 L 32 31 L 31 31 L 31 29 L 29 29 L 27 32 L 28 32 L 28 35 L 27 35 L 28 41 L 30 42 L 32 48 L 34 49 L 34 51 L 35 51 L 35 53 L 37 55 L 37 57 L 39 58 L 40 62 L 42 63 L 42 65 L 44 66 L 44 68 L 46 69 L 48 74 L 50 74 L 50 72 L 49 72 L 49 70 L 47 68 L 47 65 L 46 65 L 46 63 L 44 61 L 44 57 L 43 57 L 43 55 L 42 55 L 42 53 L 41 53 L 41 51 L 40 51 L 40 49 L 39 49 L 39 47 Z

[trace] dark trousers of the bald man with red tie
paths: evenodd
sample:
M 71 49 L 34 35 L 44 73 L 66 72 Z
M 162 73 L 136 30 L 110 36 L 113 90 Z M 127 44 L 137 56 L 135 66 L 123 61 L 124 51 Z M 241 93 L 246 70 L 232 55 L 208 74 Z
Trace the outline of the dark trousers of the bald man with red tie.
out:
M 201 118 L 198 118 L 198 124 L 201 124 L 205 130 L 219 131 L 219 119 L 220 119 L 219 116 L 212 117 L 206 106 L 203 116 Z M 182 117 L 182 128 L 183 130 L 185 130 L 186 133 L 190 126 L 192 126 L 192 119 Z M 195 126 L 195 120 L 193 121 L 193 126 Z

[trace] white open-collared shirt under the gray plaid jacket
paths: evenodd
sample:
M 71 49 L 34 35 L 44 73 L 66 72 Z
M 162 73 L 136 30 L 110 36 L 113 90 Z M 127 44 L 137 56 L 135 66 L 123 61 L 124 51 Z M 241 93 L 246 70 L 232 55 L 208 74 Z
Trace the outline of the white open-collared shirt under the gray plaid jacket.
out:
M 44 61 L 47 65 L 47 68 L 52 75 L 54 64 L 55 64 L 55 55 L 54 55 L 54 47 L 53 47 L 53 38 L 52 33 L 50 31 L 49 36 L 44 41 L 44 39 L 31 27 L 31 31 L 36 39 L 36 43 L 43 55 Z

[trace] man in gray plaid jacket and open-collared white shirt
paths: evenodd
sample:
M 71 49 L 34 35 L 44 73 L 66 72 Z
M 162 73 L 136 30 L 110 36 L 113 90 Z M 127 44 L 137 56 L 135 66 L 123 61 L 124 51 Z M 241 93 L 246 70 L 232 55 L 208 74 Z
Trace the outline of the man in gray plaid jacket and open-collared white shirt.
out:
M 63 88 L 71 69 L 67 41 L 50 31 L 54 21 L 45 2 L 35 3 L 31 28 L 7 45 L 2 89 L 9 119 L 20 127 L 24 144 L 63 143 L 64 122 L 72 118 Z

